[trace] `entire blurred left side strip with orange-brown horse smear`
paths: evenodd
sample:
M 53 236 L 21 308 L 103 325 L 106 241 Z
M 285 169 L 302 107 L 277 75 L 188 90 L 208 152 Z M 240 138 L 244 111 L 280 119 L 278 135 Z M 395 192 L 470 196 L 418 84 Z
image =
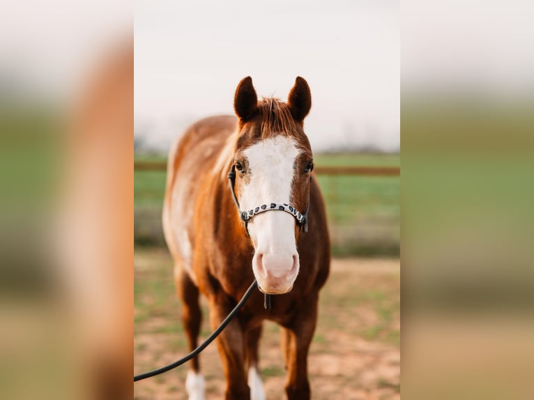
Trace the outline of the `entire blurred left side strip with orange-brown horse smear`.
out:
M 132 396 L 132 20 L 121 0 L 2 5 L 2 399 Z

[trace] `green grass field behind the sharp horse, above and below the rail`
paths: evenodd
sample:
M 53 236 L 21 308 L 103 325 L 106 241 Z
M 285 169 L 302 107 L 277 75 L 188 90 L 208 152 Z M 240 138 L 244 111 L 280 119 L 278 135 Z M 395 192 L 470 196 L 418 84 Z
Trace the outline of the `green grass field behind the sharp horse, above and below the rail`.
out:
M 399 155 L 381 154 L 319 154 L 314 161 L 321 167 L 400 165 Z M 326 200 L 334 254 L 399 255 L 399 177 L 323 175 L 318 179 Z M 137 245 L 164 245 L 160 222 L 164 192 L 165 171 L 135 171 Z

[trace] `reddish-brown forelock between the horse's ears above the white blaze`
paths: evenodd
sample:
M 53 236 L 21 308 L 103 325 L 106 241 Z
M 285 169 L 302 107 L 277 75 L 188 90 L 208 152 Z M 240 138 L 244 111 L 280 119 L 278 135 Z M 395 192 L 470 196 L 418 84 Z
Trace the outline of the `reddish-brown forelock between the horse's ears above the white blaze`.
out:
M 291 110 L 287 103 L 277 98 L 262 98 L 258 102 L 260 116 L 261 139 L 268 139 L 277 134 L 288 137 L 300 137 L 302 128 L 299 128 L 291 115 Z

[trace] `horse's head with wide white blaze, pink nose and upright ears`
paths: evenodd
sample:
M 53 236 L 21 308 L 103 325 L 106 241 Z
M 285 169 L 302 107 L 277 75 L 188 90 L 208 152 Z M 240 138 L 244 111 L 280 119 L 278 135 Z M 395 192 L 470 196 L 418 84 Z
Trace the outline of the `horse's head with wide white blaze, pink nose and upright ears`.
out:
M 273 98 L 258 101 L 250 77 L 236 89 L 234 187 L 241 211 L 251 212 L 247 231 L 255 249 L 252 270 L 265 293 L 291 291 L 300 268 L 296 242 L 305 223 L 300 217 L 309 205 L 313 169 L 303 121 L 311 106 L 310 87 L 301 77 L 296 78 L 287 103 Z M 280 212 L 282 207 L 289 212 Z

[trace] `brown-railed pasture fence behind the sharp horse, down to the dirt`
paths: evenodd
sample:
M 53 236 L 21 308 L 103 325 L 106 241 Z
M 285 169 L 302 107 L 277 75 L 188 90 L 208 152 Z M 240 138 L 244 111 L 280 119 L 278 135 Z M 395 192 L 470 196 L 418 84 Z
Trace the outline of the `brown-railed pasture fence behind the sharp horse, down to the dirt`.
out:
M 166 162 L 141 161 L 135 170 L 135 243 L 165 245 L 161 210 Z M 400 168 L 318 166 L 333 254 L 398 256 Z

